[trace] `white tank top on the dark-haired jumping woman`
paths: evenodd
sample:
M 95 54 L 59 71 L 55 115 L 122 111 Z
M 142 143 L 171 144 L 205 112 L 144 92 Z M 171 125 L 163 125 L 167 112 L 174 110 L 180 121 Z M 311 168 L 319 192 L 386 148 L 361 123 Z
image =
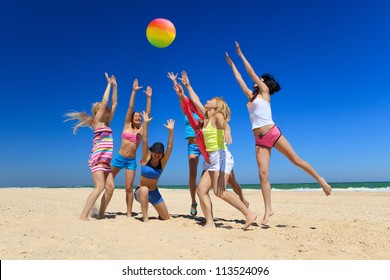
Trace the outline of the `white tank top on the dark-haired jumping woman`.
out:
M 267 124 L 274 124 L 272 121 L 271 104 L 263 98 L 255 98 L 248 106 L 249 117 L 252 123 L 252 130 Z

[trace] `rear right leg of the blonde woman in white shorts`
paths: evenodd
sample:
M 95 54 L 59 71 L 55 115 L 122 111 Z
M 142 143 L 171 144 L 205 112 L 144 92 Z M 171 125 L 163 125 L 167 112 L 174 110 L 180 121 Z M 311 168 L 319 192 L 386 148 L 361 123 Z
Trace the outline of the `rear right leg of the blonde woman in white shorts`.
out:
M 244 214 L 246 223 L 243 229 L 247 229 L 256 220 L 257 216 L 255 213 L 249 211 L 245 204 L 236 195 L 226 191 L 226 182 L 229 178 L 229 174 L 218 171 L 209 171 L 209 173 L 214 194 Z

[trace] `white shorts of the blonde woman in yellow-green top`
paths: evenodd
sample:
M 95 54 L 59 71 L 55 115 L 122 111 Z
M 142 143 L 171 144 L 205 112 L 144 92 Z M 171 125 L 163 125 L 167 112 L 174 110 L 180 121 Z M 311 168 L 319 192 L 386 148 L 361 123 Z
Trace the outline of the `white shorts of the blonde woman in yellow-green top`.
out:
M 234 159 L 228 149 L 221 149 L 209 153 L 210 164 L 203 162 L 203 170 L 221 171 L 230 174 L 234 166 Z

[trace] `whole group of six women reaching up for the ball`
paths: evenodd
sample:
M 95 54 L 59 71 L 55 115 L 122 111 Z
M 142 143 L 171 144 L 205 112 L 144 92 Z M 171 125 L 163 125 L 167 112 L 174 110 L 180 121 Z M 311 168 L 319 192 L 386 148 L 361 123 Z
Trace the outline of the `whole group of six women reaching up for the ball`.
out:
M 270 74 L 258 76 L 242 53 L 238 42 L 235 42 L 235 45 L 236 53 L 241 58 L 247 73 L 253 81 L 251 88 L 246 85 L 237 67 L 228 53 L 226 53 L 226 61 L 230 65 L 240 88 L 248 98 L 247 109 L 252 123 L 256 161 L 264 201 L 264 216 L 261 223 L 266 225 L 269 218 L 274 214 L 271 206 L 271 185 L 268 178 L 268 168 L 273 147 L 286 156 L 293 164 L 311 175 L 327 196 L 331 194 L 332 188 L 309 163 L 302 160 L 295 153 L 278 126 L 273 122 L 271 95 L 281 89 L 279 83 Z M 206 103 L 202 103 L 185 71 L 181 72 L 181 78 L 178 78 L 177 74 L 169 72 L 168 78 L 173 82 L 173 88 L 179 98 L 185 117 L 185 136 L 188 141 L 188 183 L 191 195 L 190 214 L 193 216 L 197 215 L 198 204 L 196 196 L 198 196 L 206 220 L 205 226 L 215 227 L 212 201 L 209 195 L 209 191 L 212 189 L 215 196 L 226 201 L 244 215 L 245 223 L 243 229 L 247 229 L 254 223 L 257 217 L 255 213 L 249 210 L 249 203 L 244 198 L 241 187 L 233 173 L 234 159 L 227 147 L 227 144 L 232 143 L 230 126 L 228 124 L 230 120 L 229 106 L 220 97 L 213 97 L 207 100 Z M 142 86 L 138 85 L 137 79 L 134 80 L 122 131 L 121 147 L 118 154 L 113 157 L 110 122 L 117 107 L 117 83 L 114 76 L 109 77 L 106 74 L 106 79 L 107 87 L 102 101 L 93 104 L 92 116 L 85 112 L 66 114 L 68 120 L 78 120 L 74 127 L 74 133 L 80 126 L 90 126 L 94 130 L 93 148 L 89 159 L 94 190 L 87 198 L 80 219 L 88 220 L 93 204 L 103 191 L 104 194 L 102 195 L 98 217 L 104 218 L 105 210 L 114 191 L 114 178 L 121 169 L 125 169 L 127 216 L 131 217 L 132 215 L 133 199 L 135 199 L 141 204 L 144 222 L 148 221 L 149 203 L 158 212 L 159 219 L 167 220 L 170 218 L 170 215 L 157 185 L 158 179 L 172 153 L 175 121 L 169 119 L 164 124 L 168 130 L 166 149 L 161 142 L 156 142 L 149 147 L 148 130 L 152 120 L 150 117 L 152 88 L 148 86 L 146 91 L 144 91 L 147 98 L 146 111 L 142 113 L 135 112 L 135 96 Z M 184 88 L 187 90 L 189 98 L 186 97 Z M 111 89 L 111 106 L 108 106 Z M 139 184 L 133 190 L 137 167 L 136 151 L 141 142 L 141 174 Z M 200 155 L 204 157 L 203 171 L 198 186 L 196 186 Z M 227 184 L 232 187 L 235 194 L 226 191 Z

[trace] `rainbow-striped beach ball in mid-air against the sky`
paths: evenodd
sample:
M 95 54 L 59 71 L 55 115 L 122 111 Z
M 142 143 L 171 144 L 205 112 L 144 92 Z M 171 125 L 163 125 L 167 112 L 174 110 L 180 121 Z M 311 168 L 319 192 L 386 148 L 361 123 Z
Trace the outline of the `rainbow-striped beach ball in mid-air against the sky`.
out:
M 176 37 L 176 28 L 164 18 L 152 20 L 146 28 L 146 38 L 156 48 L 165 48 L 172 44 Z

